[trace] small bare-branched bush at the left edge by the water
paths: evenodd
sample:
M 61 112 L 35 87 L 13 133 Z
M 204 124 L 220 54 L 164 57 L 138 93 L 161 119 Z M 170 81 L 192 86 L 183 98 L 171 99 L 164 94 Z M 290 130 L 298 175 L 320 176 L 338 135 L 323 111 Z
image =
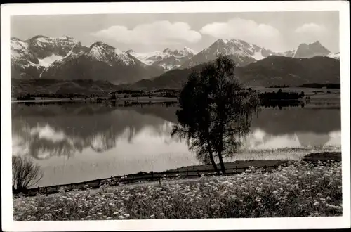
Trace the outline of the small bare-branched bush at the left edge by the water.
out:
M 12 157 L 12 184 L 17 191 L 25 191 L 43 178 L 43 172 L 29 158 Z

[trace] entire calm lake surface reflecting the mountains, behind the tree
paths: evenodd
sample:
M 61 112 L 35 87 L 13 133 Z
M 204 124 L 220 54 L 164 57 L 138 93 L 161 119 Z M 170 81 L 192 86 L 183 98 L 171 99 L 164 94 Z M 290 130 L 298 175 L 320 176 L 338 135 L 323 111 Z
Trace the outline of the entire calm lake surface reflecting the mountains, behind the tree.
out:
M 199 165 L 187 144 L 170 136 L 177 109 L 157 104 L 13 103 L 13 155 L 29 155 L 42 167 L 39 186 Z M 296 160 L 298 150 L 270 150 L 298 148 L 303 153 L 341 146 L 340 108 L 263 108 L 251 126 L 244 154 L 234 159 Z

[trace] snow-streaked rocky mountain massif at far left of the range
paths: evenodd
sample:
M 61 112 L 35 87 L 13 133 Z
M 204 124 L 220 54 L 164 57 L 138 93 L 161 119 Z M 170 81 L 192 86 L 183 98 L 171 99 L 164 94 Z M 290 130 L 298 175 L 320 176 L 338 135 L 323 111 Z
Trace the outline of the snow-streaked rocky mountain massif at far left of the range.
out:
M 121 84 L 162 72 L 102 42 L 88 48 L 72 37 L 11 39 L 12 78 L 94 79 Z

